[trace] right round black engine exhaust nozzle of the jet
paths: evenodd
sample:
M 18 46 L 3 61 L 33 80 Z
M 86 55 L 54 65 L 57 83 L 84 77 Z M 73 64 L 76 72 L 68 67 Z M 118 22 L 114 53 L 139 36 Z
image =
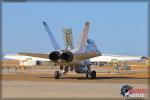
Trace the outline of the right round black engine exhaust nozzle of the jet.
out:
M 73 60 L 73 54 L 70 51 L 61 54 L 61 59 L 66 62 L 71 62 Z

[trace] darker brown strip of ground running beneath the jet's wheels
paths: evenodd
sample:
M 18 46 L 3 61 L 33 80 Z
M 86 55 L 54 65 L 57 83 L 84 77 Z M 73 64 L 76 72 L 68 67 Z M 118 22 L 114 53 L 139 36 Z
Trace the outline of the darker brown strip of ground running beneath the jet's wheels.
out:
M 144 77 L 142 77 L 144 76 Z M 97 74 L 96 79 L 86 79 L 83 74 L 68 74 L 61 77 L 59 80 L 53 78 L 50 74 L 3 74 L 1 75 L 2 80 L 12 81 L 48 81 L 48 82 L 108 82 L 108 83 L 143 83 L 147 84 L 148 79 L 146 73 L 134 75 L 120 75 L 120 74 Z

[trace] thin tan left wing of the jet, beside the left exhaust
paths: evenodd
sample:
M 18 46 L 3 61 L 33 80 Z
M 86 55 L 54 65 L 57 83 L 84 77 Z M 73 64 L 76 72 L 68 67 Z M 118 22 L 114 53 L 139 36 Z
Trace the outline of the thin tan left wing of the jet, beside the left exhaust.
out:
M 18 54 L 24 55 L 24 56 L 31 56 L 31 57 L 49 59 L 49 54 L 42 54 L 42 53 L 18 53 Z

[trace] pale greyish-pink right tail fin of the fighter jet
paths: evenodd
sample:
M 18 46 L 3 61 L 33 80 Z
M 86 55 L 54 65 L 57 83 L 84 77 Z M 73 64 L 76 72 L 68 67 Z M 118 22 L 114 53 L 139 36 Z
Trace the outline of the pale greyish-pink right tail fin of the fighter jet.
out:
M 79 40 L 79 43 L 77 45 L 77 48 L 79 52 L 84 52 L 86 50 L 86 45 L 87 45 L 87 39 L 88 39 L 88 32 L 89 32 L 89 22 L 85 23 L 83 32 L 81 33 L 81 37 Z

